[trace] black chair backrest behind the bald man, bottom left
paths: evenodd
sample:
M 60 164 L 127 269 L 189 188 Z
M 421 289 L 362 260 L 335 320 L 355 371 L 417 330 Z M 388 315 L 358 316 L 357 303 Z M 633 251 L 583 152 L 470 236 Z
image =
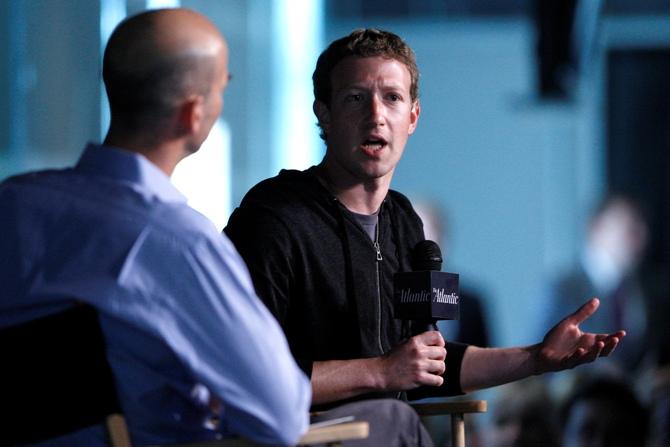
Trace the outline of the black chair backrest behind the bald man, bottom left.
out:
M 0 329 L 0 445 L 37 442 L 120 413 L 95 309 Z

